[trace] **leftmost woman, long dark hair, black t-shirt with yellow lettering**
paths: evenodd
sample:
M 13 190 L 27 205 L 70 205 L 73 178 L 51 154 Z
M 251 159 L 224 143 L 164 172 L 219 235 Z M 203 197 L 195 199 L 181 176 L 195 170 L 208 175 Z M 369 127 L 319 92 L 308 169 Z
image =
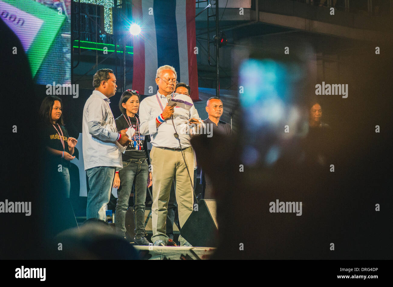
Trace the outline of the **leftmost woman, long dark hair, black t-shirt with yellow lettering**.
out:
M 47 96 L 42 101 L 40 107 L 42 144 L 46 149 L 46 175 L 48 184 L 56 191 L 61 192 L 61 196 L 70 197 L 70 173 L 68 167 L 70 160 L 75 156 L 74 147 L 77 139 L 68 136 L 66 128 L 63 126 L 62 101 L 57 96 Z

